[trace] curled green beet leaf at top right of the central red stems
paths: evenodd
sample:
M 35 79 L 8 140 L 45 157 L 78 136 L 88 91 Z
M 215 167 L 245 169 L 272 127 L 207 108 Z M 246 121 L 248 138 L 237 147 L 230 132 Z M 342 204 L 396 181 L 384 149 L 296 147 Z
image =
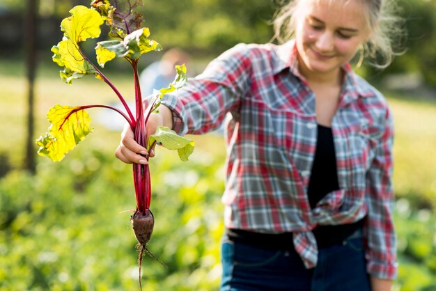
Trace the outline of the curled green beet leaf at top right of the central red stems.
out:
M 155 40 L 148 39 L 150 30 L 147 27 L 133 31 L 124 38 L 124 45 L 129 49 L 127 56 L 132 59 L 138 59 L 141 54 L 151 51 L 161 51 L 162 46 Z

